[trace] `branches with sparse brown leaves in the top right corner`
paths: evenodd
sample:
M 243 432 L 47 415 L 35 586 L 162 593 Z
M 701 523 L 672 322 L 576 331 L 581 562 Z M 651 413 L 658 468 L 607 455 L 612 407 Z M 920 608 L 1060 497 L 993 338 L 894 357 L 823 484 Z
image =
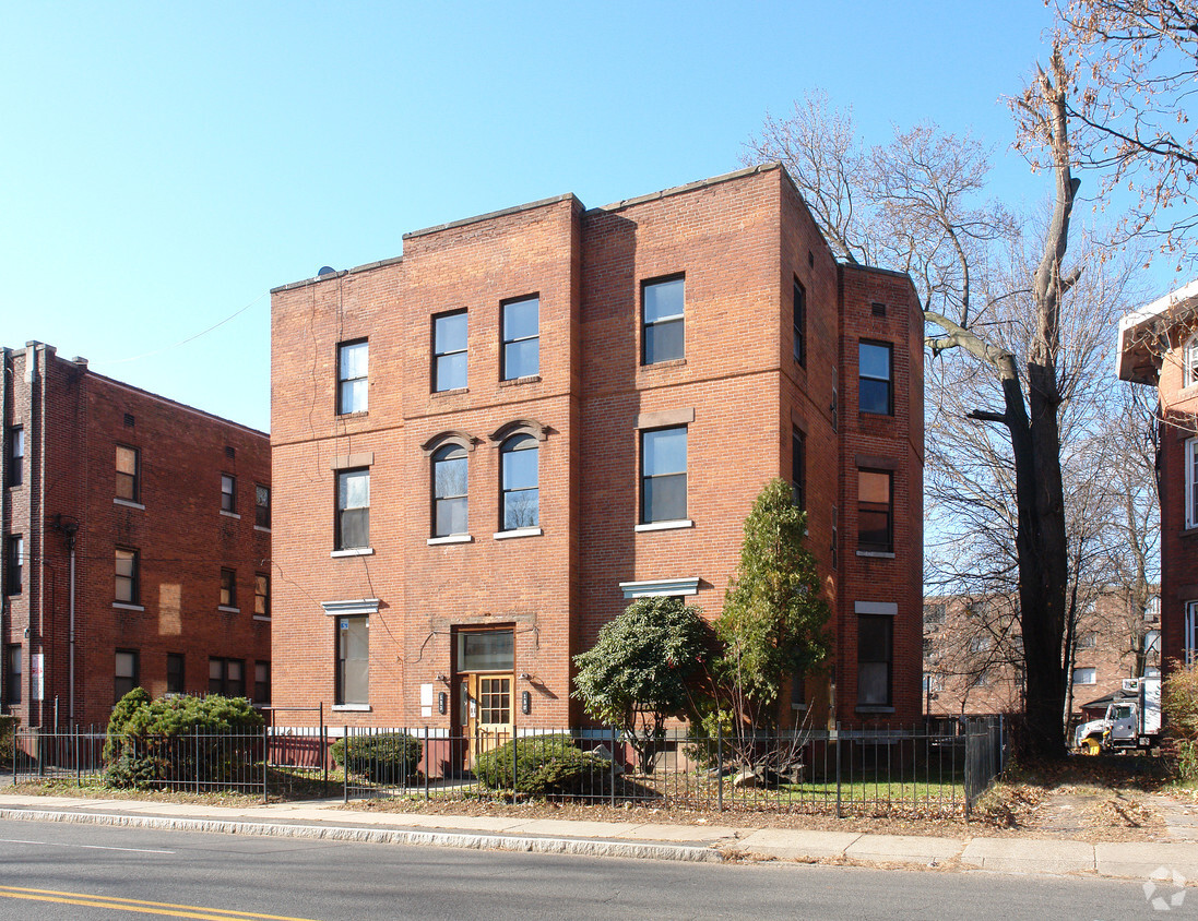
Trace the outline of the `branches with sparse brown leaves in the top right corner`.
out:
M 1079 163 L 1103 169 L 1101 193 L 1138 200 L 1127 234 L 1187 241 L 1198 131 L 1187 109 L 1198 91 L 1196 0 L 1058 0 L 1059 42 L 1079 92 L 1065 102 Z

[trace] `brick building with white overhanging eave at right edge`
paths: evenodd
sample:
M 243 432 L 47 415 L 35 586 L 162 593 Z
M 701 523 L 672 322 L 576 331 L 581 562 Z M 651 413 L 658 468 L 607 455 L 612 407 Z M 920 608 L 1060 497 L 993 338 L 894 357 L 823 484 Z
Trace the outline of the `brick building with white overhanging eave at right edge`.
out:
M 1119 321 L 1118 374 L 1160 396 L 1161 658 L 1198 650 L 1198 281 Z

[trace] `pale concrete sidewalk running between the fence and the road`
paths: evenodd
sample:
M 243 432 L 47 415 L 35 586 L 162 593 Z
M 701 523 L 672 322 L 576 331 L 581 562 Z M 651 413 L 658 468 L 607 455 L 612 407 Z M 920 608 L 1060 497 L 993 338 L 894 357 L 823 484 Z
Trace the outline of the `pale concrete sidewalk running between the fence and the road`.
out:
M 657 825 L 347 810 L 338 800 L 222 807 L 72 796 L 0 795 L 0 818 L 179 831 L 368 841 L 655 860 L 783 860 L 1148 879 L 1161 868 L 1198 885 L 1198 843 L 957 840 L 853 831 Z

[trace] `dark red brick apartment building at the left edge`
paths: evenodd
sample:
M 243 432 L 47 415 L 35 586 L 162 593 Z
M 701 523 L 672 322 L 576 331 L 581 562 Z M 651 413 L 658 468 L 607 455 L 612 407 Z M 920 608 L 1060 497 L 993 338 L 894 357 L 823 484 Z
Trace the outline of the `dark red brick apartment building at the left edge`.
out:
M 41 343 L 2 357 L 4 710 L 103 723 L 137 685 L 268 702 L 268 436 Z

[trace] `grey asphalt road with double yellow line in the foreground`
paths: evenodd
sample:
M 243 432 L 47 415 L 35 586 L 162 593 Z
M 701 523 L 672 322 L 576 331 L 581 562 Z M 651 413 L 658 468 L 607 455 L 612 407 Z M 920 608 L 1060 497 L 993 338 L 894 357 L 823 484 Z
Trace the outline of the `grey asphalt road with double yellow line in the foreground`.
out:
M 1198 890 L 1185 896 L 1166 914 L 1133 881 L 605 860 L 0 822 L 0 921 L 1198 916 Z

